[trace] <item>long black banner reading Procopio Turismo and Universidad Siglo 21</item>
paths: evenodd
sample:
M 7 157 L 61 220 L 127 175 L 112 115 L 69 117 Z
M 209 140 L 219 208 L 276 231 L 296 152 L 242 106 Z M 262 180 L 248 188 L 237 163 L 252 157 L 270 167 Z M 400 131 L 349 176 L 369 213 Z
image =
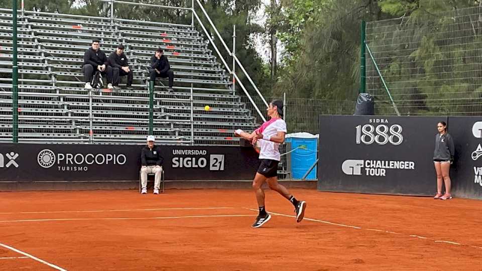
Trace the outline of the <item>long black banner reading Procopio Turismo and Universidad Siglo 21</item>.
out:
M 133 181 L 143 145 L 0 144 L 0 181 Z M 253 148 L 161 146 L 166 180 L 250 180 Z

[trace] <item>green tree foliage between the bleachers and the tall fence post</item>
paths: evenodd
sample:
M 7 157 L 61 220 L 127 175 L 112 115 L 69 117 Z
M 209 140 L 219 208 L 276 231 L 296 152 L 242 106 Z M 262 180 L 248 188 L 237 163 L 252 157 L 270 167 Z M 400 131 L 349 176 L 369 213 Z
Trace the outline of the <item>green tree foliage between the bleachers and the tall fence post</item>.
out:
M 358 89 L 359 25 L 378 5 L 365 0 L 296 0 L 287 14 L 285 66 L 274 94 L 353 99 Z M 286 7 L 285 7 L 286 8 Z M 370 15 L 370 14 L 369 14 Z

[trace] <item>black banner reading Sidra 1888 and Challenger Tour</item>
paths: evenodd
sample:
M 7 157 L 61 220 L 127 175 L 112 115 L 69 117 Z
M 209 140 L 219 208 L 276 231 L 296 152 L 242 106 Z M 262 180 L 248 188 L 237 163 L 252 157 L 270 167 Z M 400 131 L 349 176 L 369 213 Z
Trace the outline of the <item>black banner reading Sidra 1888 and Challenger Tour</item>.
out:
M 447 117 L 320 116 L 318 189 L 433 195 L 438 121 Z

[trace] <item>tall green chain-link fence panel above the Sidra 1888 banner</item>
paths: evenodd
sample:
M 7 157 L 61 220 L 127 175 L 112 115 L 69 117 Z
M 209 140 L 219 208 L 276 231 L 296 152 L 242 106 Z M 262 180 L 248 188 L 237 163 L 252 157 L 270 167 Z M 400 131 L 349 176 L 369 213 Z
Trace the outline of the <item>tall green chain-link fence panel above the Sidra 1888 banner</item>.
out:
M 366 43 L 402 115 L 482 113 L 482 7 L 370 22 Z M 395 114 L 366 58 L 376 113 Z

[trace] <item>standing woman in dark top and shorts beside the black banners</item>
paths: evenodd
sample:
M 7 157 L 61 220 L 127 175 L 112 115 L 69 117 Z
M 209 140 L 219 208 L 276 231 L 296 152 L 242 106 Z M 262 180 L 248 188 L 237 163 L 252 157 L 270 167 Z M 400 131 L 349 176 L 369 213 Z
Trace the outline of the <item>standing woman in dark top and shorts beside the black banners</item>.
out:
M 433 164 L 437 172 L 437 194 L 434 199 L 451 199 L 450 194 L 450 165 L 453 161 L 454 147 L 450 134 L 447 132 L 447 123 L 437 123 L 438 133 L 435 135 L 435 150 L 433 151 Z M 445 183 L 445 194 L 442 195 L 442 178 Z

